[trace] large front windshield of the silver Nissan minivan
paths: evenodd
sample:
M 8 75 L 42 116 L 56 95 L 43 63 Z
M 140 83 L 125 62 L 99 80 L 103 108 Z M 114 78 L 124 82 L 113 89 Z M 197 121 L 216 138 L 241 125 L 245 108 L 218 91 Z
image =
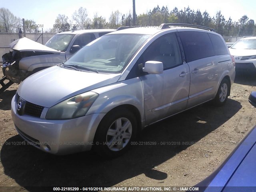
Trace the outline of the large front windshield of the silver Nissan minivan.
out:
M 145 34 L 104 35 L 76 52 L 65 62 L 65 66 L 120 73 L 149 37 Z

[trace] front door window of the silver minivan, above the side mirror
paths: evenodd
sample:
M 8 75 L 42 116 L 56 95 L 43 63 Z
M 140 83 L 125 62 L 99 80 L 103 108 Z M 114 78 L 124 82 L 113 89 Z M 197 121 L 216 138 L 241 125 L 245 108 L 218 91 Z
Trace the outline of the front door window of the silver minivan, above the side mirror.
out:
M 166 34 L 156 39 L 143 53 L 143 63 L 159 61 L 164 65 L 164 70 L 182 64 L 180 48 L 175 33 Z

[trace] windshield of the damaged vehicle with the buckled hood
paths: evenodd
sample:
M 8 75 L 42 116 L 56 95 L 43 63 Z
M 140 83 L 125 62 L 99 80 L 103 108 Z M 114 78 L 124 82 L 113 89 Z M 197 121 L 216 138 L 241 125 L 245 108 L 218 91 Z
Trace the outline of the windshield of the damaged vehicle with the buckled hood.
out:
M 45 46 L 48 46 L 57 51 L 65 52 L 73 37 L 74 34 L 56 34 L 50 38 L 50 40 L 48 40 Z

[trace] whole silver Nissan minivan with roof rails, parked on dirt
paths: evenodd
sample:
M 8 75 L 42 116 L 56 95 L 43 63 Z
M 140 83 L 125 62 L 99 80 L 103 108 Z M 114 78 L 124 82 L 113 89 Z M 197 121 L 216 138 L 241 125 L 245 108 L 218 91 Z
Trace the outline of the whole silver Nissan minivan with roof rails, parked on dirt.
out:
M 20 136 L 52 154 L 114 157 L 154 122 L 210 100 L 224 105 L 235 66 L 222 36 L 170 25 L 106 34 L 28 77 L 12 99 Z

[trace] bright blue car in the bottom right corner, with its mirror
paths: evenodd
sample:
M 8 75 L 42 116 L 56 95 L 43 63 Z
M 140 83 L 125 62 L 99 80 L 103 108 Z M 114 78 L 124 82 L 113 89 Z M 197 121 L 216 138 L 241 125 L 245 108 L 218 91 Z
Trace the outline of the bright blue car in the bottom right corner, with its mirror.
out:
M 256 92 L 249 96 L 256 107 Z M 248 132 L 222 164 L 196 186 L 204 192 L 252 192 L 256 185 L 256 126 Z

